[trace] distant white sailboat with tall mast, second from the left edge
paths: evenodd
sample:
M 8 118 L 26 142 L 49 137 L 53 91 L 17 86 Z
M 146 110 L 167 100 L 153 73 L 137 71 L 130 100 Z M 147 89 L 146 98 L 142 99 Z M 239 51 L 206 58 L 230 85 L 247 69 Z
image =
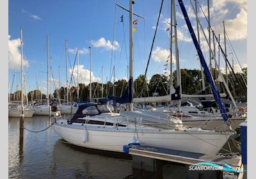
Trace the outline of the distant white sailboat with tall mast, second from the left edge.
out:
M 49 105 L 49 38 L 48 35 L 46 37 L 46 43 L 47 43 L 47 104 L 42 104 L 42 105 L 35 105 L 35 115 L 39 116 L 51 116 L 53 113 L 51 111 L 51 105 Z

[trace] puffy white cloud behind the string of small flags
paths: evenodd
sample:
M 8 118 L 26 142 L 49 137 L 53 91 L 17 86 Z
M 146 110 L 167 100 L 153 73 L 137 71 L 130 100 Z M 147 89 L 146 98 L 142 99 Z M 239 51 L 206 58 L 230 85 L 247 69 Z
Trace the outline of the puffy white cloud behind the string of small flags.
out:
M 168 56 L 170 55 L 170 51 L 168 49 L 163 49 L 162 47 L 156 47 L 154 51 L 152 51 L 152 58 L 154 61 L 161 62 L 161 61 L 166 61 Z M 176 63 L 175 57 L 172 55 L 173 63 Z

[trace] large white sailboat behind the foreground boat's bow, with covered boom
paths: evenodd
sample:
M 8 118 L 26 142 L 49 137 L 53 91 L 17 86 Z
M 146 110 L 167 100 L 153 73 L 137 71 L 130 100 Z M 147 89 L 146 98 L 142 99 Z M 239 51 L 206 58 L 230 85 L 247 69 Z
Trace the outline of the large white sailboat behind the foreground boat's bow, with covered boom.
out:
M 191 2 L 191 1 L 190 1 Z M 195 3 L 195 8 L 196 8 L 196 4 L 197 2 Z M 191 3 L 191 6 L 193 7 L 193 4 Z M 199 38 L 199 29 L 198 29 L 198 25 L 200 24 L 200 21 L 197 17 L 197 10 L 195 10 L 195 8 L 193 7 L 193 10 L 195 12 L 195 15 L 196 15 L 196 22 L 197 22 L 197 31 L 198 31 L 198 42 L 197 42 L 197 45 L 198 47 L 200 47 L 200 38 Z M 171 19 L 175 19 L 175 16 L 174 18 L 171 17 Z M 175 23 L 175 22 L 174 22 Z M 172 26 L 172 25 L 171 25 Z M 202 25 L 200 24 L 200 27 L 202 28 Z M 174 26 L 174 28 L 176 28 L 176 26 Z M 170 27 L 171 29 L 171 33 L 170 33 L 170 36 L 172 36 L 172 27 Z M 175 29 L 176 30 L 176 29 Z M 204 31 L 203 31 L 204 33 Z M 176 33 L 175 33 L 176 34 Z M 204 33 L 204 36 L 205 36 L 205 33 Z M 207 41 L 207 38 L 205 36 L 205 39 Z M 170 40 L 170 42 L 172 42 L 172 40 Z M 209 43 L 211 42 L 207 42 L 208 45 Z M 177 49 L 177 38 L 175 38 L 175 46 L 176 46 L 176 49 L 175 51 L 179 51 L 179 49 Z M 172 52 L 172 44 L 170 45 L 170 49 L 171 49 L 171 52 Z M 211 46 L 209 45 L 209 51 L 210 51 L 210 56 L 212 55 L 212 58 L 215 59 L 215 56 L 211 50 Z M 198 52 L 199 53 L 199 52 Z M 177 56 L 178 55 L 178 56 Z M 202 54 L 200 54 L 202 56 Z M 199 56 L 199 54 L 198 54 Z M 170 55 L 170 58 L 171 58 L 171 64 L 172 64 L 172 55 Z M 176 58 L 179 59 L 179 53 L 176 53 Z M 216 59 L 215 59 L 216 60 Z M 180 77 L 179 74 L 179 60 L 178 60 L 178 63 L 177 63 L 177 82 L 180 81 Z M 172 65 L 170 65 L 171 69 L 171 74 L 172 74 Z M 218 66 L 218 65 L 216 65 Z M 206 66 L 205 66 L 206 67 Z M 202 68 L 202 64 L 201 64 L 201 68 Z M 220 66 L 218 66 L 218 70 L 220 71 Z M 202 71 L 202 78 L 204 78 L 204 71 L 201 69 Z M 232 94 L 230 93 L 230 90 L 228 89 L 228 85 L 227 83 L 225 82 L 225 79 L 223 77 L 222 74 L 220 74 L 220 77 L 221 77 L 221 80 L 223 81 L 223 84 L 225 86 L 225 88 L 227 89 L 227 92 L 228 92 L 228 95 L 230 96 L 231 100 L 232 100 L 232 104 L 234 105 L 234 109 L 231 109 L 229 108 L 229 113 L 230 114 L 230 118 L 229 118 L 229 122 L 231 124 L 231 127 L 233 129 L 236 129 L 239 124 L 241 122 L 243 122 L 246 118 L 246 114 L 244 113 L 239 113 L 237 111 L 237 106 L 236 106 L 236 102 L 234 101 L 234 98 L 232 97 Z M 210 76 L 208 78 L 211 78 Z M 202 80 L 202 86 L 203 86 L 203 90 L 205 90 L 205 84 L 204 84 L 204 80 Z M 177 94 L 177 89 L 179 88 L 175 88 L 172 90 L 172 77 L 171 77 L 171 90 L 170 90 L 170 95 L 165 95 L 165 96 L 162 96 L 162 97 L 143 97 L 143 98 L 134 98 L 134 102 L 137 102 L 137 103 L 149 103 L 149 102 L 170 102 L 172 100 L 176 100 L 175 99 L 175 95 L 178 96 L 179 94 Z M 180 87 L 180 82 L 179 82 L 179 86 Z M 173 91 L 173 93 L 171 92 Z M 218 93 L 218 91 L 215 90 L 215 93 Z M 225 93 L 221 93 L 218 95 L 220 95 L 221 97 L 225 97 Z M 208 94 L 208 95 L 187 95 L 187 94 L 180 94 L 180 98 L 200 98 L 200 97 L 213 97 L 214 95 L 213 94 Z M 173 98 L 174 97 L 174 98 Z M 220 99 L 219 99 L 220 100 Z M 201 103 L 206 104 L 207 101 L 201 101 Z M 211 101 L 212 104 L 215 104 L 215 101 L 212 100 Z M 220 101 L 221 102 L 221 101 Z M 205 105 L 204 105 L 205 106 Z M 216 106 L 216 108 L 218 108 L 218 106 Z M 208 107 L 208 111 L 205 111 L 205 109 L 200 109 L 194 105 L 192 105 L 191 103 L 187 106 L 181 106 L 180 105 L 180 101 L 179 101 L 179 104 L 178 104 L 178 109 L 176 107 L 161 107 L 161 108 L 154 108 L 154 107 L 151 107 L 150 111 L 154 112 L 154 113 L 165 113 L 166 115 L 172 115 L 172 116 L 176 116 L 178 118 L 180 118 L 184 124 L 188 125 L 189 127 L 198 127 L 198 126 L 204 126 L 204 128 L 207 128 L 207 129 L 214 129 L 216 127 L 221 127 L 224 123 L 223 123 L 223 120 L 222 120 L 222 114 L 221 114 L 221 111 L 216 109 L 212 106 L 209 106 Z M 143 111 L 145 110 L 141 110 L 141 113 L 143 113 Z M 145 113 L 147 113 L 147 111 L 145 111 Z M 154 116 L 157 116 L 157 115 L 160 115 L 160 114 L 154 114 Z M 205 122 L 207 121 L 207 122 Z M 209 123 L 211 123 L 211 125 L 208 125 Z

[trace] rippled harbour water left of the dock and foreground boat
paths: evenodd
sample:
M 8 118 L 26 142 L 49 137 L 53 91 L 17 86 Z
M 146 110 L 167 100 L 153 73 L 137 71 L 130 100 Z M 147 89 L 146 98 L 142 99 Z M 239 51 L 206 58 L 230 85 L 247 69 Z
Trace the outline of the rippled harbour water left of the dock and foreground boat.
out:
M 24 127 L 42 130 L 52 121 L 47 116 L 34 116 L 24 119 Z M 115 159 L 107 153 L 102 155 L 102 151 L 67 144 L 53 128 L 39 133 L 24 130 L 23 148 L 19 144 L 19 118 L 9 118 L 8 131 L 9 178 L 129 178 L 132 175 L 132 160 Z

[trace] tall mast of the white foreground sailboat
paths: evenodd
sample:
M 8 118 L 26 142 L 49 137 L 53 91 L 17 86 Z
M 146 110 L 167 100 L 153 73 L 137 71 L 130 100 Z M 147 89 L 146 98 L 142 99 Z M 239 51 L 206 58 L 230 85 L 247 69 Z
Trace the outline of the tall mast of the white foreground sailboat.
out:
M 133 32 L 132 32 L 132 22 L 133 22 L 133 4 L 134 1 L 129 0 L 129 94 L 131 96 L 131 103 L 129 103 L 129 111 L 133 111 L 133 90 L 132 90 L 132 84 L 133 84 Z

